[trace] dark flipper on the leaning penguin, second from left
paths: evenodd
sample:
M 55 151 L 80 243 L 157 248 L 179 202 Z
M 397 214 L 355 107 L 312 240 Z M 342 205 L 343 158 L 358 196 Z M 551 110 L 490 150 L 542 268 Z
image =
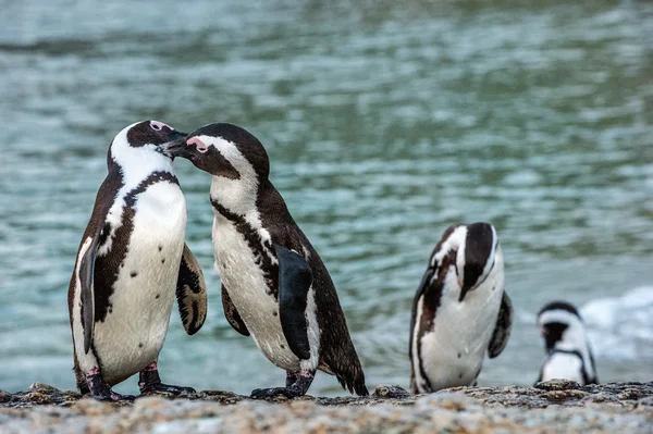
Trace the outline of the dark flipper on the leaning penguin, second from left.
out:
M 301 360 L 310 359 L 306 306 L 312 271 L 296 251 L 274 245 L 279 260 L 279 318 L 291 350 Z

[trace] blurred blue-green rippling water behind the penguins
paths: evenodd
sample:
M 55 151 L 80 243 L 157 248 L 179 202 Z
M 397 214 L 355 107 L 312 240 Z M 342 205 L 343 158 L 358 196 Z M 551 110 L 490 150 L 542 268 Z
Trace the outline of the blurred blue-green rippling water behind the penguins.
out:
M 581 307 L 599 377 L 653 380 L 653 3 L 0 1 L 0 388 L 74 388 L 66 292 L 113 136 L 246 127 L 336 284 L 368 386 L 408 386 L 410 308 L 452 223 L 502 239 L 516 323 L 481 385 L 529 385 L 535 314 Z M 209 317 L 165 382 L 285 375 L 234 332 L 209 175 L 176 161 Z M 136 392 L 136 379 L 116 387 Z M 344 392 L 319 374 L 312 395 Z

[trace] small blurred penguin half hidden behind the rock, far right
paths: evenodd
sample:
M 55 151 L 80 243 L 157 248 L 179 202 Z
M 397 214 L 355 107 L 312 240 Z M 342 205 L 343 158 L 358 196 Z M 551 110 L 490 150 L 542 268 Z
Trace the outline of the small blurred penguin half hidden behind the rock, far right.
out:
M 550 302 L 540 310 L 538 325 L 544 338 L 546 359 L 535 383 L 562 379 L 581 385 L 599 384 L 588 334 L 574 305 Z

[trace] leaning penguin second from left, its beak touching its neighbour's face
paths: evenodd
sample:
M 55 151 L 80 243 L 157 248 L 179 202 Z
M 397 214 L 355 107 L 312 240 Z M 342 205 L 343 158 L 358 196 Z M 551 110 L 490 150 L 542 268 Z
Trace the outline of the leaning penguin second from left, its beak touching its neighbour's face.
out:
M 368 395 L 335 287 L 268 178 L 261 142 L 238 126 L 210 124 L 171 152 L 213 175 L 213 252 L 229 323 L 286 371 L 286 387 L 251 396 L 305 395 L 317 369 Z

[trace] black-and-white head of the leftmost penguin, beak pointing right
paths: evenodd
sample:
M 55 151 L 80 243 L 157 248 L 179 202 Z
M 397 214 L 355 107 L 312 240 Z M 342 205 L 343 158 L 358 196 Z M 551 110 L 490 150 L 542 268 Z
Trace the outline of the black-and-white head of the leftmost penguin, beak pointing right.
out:
M 107 159 L 109 165 L 114 161 L 123 171 L 130 166 L 156 164 L 161 159 L 172 161 L 167 152 L 168 144 L 186 137 L 172 126 L 159 121 L 144 121 L 132 124 L 121 131 L 109 146 Z

